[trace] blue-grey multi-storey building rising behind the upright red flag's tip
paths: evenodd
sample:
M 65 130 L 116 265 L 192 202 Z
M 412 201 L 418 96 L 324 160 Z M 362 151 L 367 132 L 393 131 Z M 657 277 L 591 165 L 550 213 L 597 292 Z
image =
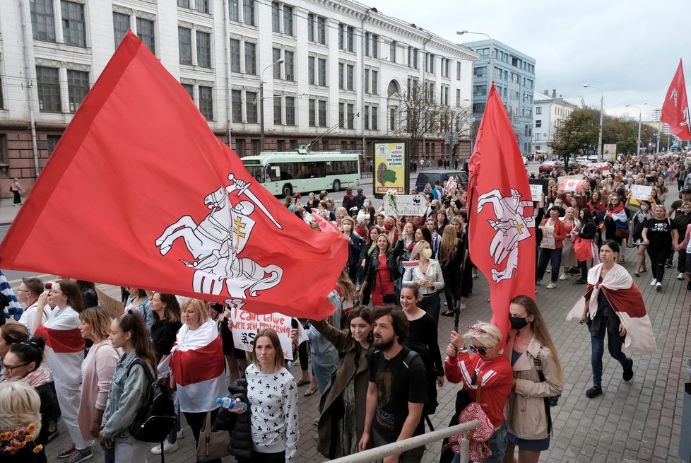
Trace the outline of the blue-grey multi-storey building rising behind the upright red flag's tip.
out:
M 480 54 L 473 65 L 473 114 L 482 117 L 494 82 L 511 119 L 521 152 L 531 153 L 535 59 L 498 40 L 479 40 L 463 45 Z M 492 73 L 494 76 L 490 77 Z

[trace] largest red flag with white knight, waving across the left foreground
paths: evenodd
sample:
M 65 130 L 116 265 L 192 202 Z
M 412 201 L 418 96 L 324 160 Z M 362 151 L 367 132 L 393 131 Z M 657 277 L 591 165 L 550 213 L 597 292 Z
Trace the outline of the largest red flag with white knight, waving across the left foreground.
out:
M 347 247 L 254 180 L 129 32 L 31 189 L 0 266 L 322 318 Z

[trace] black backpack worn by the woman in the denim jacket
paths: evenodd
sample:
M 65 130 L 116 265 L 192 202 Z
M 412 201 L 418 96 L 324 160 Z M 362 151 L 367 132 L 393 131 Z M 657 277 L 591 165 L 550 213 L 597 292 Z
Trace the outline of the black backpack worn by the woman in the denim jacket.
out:
M 129 364 L 127 375 L 137 364 L 142 366 L 149 385 L 143 392 L 143 402 L 129 426 L 129 434 L 136 440 L 160 443 L 163 447 L 163 441 L 175 427 L 175 404 L 167 389 L 155 380 L 149 368 L 138 358 Z

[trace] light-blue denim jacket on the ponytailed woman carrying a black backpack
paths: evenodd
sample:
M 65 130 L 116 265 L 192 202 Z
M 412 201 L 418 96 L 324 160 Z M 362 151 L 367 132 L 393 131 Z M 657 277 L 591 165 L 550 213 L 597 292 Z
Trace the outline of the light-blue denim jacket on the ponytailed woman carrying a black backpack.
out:
M 143 394 L 149 383 L 143 370 L 146 361 L 140 359 L 143 365 L 135 365 L 129 371 L 129 375 L 127 374 L 129 365 L 135 358 L 137 358 L 136 351 L 124 353 L 115 365 L 115 374 L 110 384 L 108 402 L 101 422 L 102 434 L 106 438 L 128 438 L 129 425 L 134 421 L 143 401 Z

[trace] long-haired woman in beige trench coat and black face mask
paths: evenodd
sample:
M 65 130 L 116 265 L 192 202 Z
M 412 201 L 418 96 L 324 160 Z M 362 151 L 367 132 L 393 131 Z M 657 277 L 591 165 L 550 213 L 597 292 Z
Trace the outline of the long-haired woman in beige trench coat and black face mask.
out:
M 506 406 L 507 450 L 504 463 L 537 463 L 550 447 L 548 398 L 561 394 L 564 384 L 557 350 L 535 301 L 519 295 L 509 306 L 512 329 L 505 353 L 514 370 L 514 388 Z

